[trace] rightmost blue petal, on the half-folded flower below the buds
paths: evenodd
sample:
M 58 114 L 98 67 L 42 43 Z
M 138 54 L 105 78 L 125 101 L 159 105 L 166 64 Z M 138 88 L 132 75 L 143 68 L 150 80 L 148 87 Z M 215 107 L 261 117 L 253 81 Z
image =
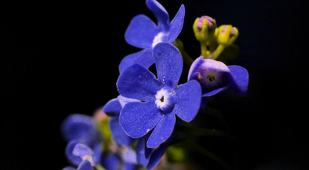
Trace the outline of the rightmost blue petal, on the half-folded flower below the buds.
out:
M 248 71 L 245 68 L 237 65 L 228 66 L 228 69 L 230 69 L 230 73 L 234 82 L 230 85 L 230 88 L 241 96 L 246 95 L 249 81 Z

